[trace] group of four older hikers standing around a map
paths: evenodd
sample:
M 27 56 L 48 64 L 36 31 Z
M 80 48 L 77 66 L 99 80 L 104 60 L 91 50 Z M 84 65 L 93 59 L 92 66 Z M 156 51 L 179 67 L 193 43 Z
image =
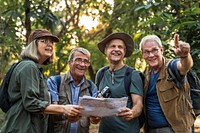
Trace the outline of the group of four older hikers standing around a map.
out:
M 28 45 L 21 52 L 23 61 L 12 73 L 8 89 L 13 106 L 6 113 L 1 133 L 88 133 L 90 123 L 99 123 L 99 133 L 139 133 L 138 117 L 144 111 L 145 133 L 191 133 L 195 114 L 182 91 L 169 80 L 163 56 L 164 47 L 156 35 L 147 35 L 140 42 L 142 56 L 147 63 L 142 79 L 139 71 L 131 72 L 130 95 L 125 90 L 124 76 L 128 65 L 124 58 L 134 50 L 132 37 L 113 33 L 98 43 L 109 65 L 102 79 L 97 72 L 95 83 L 85 77 L 90 66 L 90 52 L 75 48 L 68 57 L 69 71 L 46 79 L 42 65 L 54 62 L 54 45 L 59 39 L 48 30 L 37 29 L 30 34 Z M 184 84 L 189 95 L 186 73 L 193 66 L 190 45 L 174 36 L 175 59 L 170 65 Z M 84 117 L 78 105 L 80 96 L 97 97 L 106 86 L 111 98 L 128 97 L 126 108 L 109 117 Z

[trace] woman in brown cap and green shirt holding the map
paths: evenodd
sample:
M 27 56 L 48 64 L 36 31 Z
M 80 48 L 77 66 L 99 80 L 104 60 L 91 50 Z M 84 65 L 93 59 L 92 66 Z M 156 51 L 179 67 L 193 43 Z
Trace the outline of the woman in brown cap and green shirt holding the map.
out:
M 8 88 L 13 103 L 1 133 L 45 133 L 47 114 L 81 115 L 81 106 L 52 105 L 42 65 L 54 61 L 54 43 L 59 39 L 45 29 L 35 30 L 21 52 L 22 61 L 14 69 Z

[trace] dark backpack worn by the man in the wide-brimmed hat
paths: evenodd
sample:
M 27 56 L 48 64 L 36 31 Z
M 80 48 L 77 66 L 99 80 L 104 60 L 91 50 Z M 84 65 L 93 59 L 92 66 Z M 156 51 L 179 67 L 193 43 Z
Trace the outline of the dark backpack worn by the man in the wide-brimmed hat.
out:
M 97 81 L 97 83 L 96 83 L 96 85 L 97 85 L 97 88 L 99 87 L 99 84 L 100 84 L 100 82 L 101 82 L 101 80 L 102 80 L 102 78 L 103 78 L 103 76 L 104 76 L 104 72 L 107 70 L 107 69 L 109 69 L 109 67 L 108 66 L 106 66 L 106 67 L 104 67 L 104 68 L 102 68 L 100 71 L 99 71 L 99 80 Z M 124 88 L 125 88 L 125 90 L 126 90 L 126 94 L 127 94 L 127 96 L 131 96 L 131 93 L 130 93 L 130 85 L 131 85 L 131 73 L 133 72 L 133 71 L 136 71 L 134 68 L 132 68 L 132 67 L 127 67 L 127 69 L 126 69 L 126 72 L 125 72 L 125 76 L 124 76 Z M 143 73 L 141 73 L 141 72 L 139 72 L 139 74 L 140 74 L 140 77 L 141 77 L 141 79 L 143 80 L 143 84 L 144 84 L 144 79 L 145 79 L 145 77 L 144 77 L 144 75 L 143 75 Z M 138 119 L 139 119 L 139 125 L 140 125 L 140 128 L 142 128 L 143 127 L 143 125 L 144 125 L 144 122 L 145 122 L 145 115 L 144 115 L 144 111 L 142 110 L 142 113 L 141 113 L 141 115 L 138 117 Z

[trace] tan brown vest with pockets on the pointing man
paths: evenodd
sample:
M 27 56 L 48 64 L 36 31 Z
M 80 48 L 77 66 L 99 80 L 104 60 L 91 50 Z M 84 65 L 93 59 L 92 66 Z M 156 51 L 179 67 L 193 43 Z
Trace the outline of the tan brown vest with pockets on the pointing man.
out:
M 195 121 L 195 114 L 192 110 L 191 101 L 183 96 L 182 91 L 176 88 L 173 81 L 168 80 L 169 74 L 166 69 L 166 64 L 169 60 L 163 59 L 164 64 L 160 70 L 160 75 L 156 84 L 156 91 L 158 95 L 158 100 L 163 110 L 163 113 L 171 125 L 172 129 L 176 133 L 187 133 L 188 129 L 192 127 Z M 148 89 L 148 84 L 150 81 L 151 68 L 147 68 L 144 100 L 146 100 L 146 94 Z M 189 88 L 188 82 L 185 84 L 185 88 Z M 186 89 L 186 93 L 189 96 L 189 89 Z M 185 112 L 183 111 L 183 99 L 185 103 Z M 146 105 L 144 105 L 146 107 Z M 146 109 L 145 109 L 146 112 Z M 146 124 L 146 131 L 148 126 Z

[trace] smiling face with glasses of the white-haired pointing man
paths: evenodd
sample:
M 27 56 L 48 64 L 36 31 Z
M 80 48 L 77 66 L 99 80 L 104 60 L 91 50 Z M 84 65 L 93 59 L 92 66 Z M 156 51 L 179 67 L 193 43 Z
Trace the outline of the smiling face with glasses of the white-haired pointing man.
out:
M 156 41 L 146 41 L 141 49 L 143 58 L 153 69 L 159 69 L 162 66 L 163 48 L 159 47 Z

